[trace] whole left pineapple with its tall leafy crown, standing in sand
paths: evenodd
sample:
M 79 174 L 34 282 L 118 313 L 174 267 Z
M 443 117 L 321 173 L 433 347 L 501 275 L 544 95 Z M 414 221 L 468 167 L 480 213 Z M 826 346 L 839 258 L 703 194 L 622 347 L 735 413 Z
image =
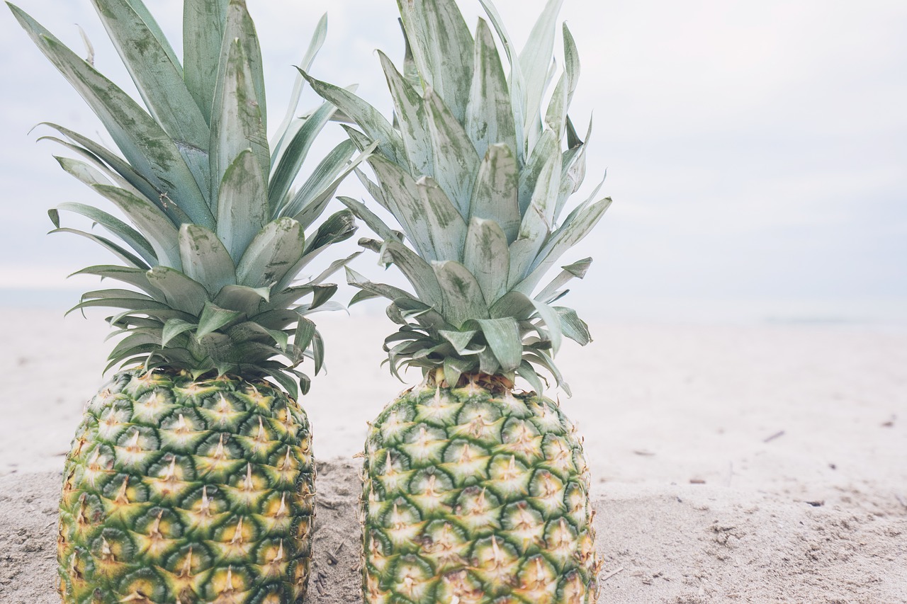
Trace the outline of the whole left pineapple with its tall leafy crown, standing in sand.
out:
M 296 279 L 355 231 L 348 209 L 319 217 L 364 156 L 352 159 L 344 141 L 293 190 L 336 108 L 295 117 L 299 78 L 268 142 L 244 0 L 186 0 L 182 64 L 141 0 L 93 5 L 144 106 L 10 5 L 120 151 L 51 124 L 60 136 L 48 138 L 75 156 L 57 158 L 63 169 L 125 218 L 69 202 L 50 211 L 57 231 L 120 260 L 80 273 L 125 284 L 75 307 L 116 309 L 108 321 L 122 339 L 108 368 L 127 366 L 87 404 L 66 457 L 60 593 L 79 604 L 300 601 L 315 467 L 295 400 L 309 379 L 297 366 L 305 357 L 316 373 L 322 365 L 307 316 L 335 304 L 336 286 L 323 281 L 349 258 Z M 323 18 L 304 66 L 326 27 Z M 62 210 L 110 236 L 61 226 Z

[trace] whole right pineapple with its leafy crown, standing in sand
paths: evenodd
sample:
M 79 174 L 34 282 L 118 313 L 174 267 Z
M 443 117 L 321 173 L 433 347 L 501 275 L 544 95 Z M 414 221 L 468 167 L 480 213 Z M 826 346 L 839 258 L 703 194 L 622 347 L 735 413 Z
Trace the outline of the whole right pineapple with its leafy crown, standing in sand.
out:
M 567 116 L 579 60 L 566 25 L 560 73 L 552 60 L 561 0 L 548 2 L 520 54 L 488 0 L 491 26 L 480 19 L 474 37 L 454 0 L 398 5 L 402 73 L 380 55 L 395 123 L 308 79 L 356 122 L 351 140 L 378 143 L 368 160 L 377 181 L 357 172 L 402 232 L 343 200 L 380 238 L 360 243 L 414 293 L 349 268 L 347 280 L 361 289 L 355 301 L 391 300 L 400 325 L 385 340 L 391 371 L 424 373 L 366 439 L 363 593 L 395 604 L 593 602 L 600 562 L 581 440 L 537 394 L 540 369 L 570 394 L 553 356 L 564 336 L 585 345 L 590 334 L 555 303 L 591 260 L 541 279 L 610 204 L 593 202 L 596 190 L 561 218 L 587 148 Z M 534 392 L 516 391 L 517 376 Z

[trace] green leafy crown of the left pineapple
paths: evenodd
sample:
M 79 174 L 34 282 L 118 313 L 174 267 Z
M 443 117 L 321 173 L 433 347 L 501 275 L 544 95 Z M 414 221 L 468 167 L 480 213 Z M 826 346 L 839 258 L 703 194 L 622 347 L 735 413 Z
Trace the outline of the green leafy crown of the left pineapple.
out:
M 182 63 L 141 0 L 93 0 L 144 107 L 15 5 L 16 19 L 81 93 L 121 154 L 63 126 L 48 136 L 79 159 L 58 157 L 63 170 L 100 193 L 129 221 L 102 209 L 62 203 L 49 214 L 56 229 L 108 249 L 122 264 L 81 274 L 135 289 L 90 291 L 73 307 L 112 307 L 122 340 L 110 365 L 140 362 L 199 376 L 271 376 L 297 395 L 308 377 L 296 366 L 323 343 L 307 316 L 330 308 L 336 285 L 323 281 L 350 258 L 296 283 L 299 272 L 356 230 L 343 209 L 315 225 L 351 160 L 351 141 L 337 145 L 294 190 L 317 134 L 334 117 L 325 102 L 294 116 L 304 82 L 297 80 L 287 116 L 268 142 L 258 37 L 245 0 L 186 0 Z M 322 17 L 301 65 L 323 44 Z M 147 109 L 146 109 L 147 108 Z M 81 214 L 112 238 L 61 226 L 60 210 Z M 315 225 L 313 227 L 313 225 Z M 305 231 L 310 233 L 306 236 Z M 71 311 L 72 312 L 72 311 Z

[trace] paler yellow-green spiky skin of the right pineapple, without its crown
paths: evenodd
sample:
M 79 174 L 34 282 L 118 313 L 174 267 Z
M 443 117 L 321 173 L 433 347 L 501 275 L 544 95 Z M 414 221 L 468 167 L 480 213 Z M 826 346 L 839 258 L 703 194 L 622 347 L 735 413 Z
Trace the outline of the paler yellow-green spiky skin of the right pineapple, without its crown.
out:
M 590 604 L 600 571 L 589 472 L 550 399 L 423 385 L 366 440 L 369 604 Z

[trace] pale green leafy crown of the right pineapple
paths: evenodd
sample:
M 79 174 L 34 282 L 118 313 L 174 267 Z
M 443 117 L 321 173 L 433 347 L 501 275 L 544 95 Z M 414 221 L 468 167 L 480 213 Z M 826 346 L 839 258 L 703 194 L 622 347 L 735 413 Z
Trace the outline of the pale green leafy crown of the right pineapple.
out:
M 493 4 L 481 2 L 509 75 L 484 19 L 473 37 L 454 0 L 398 0 L 407 40 L 403 73 L 380 54 L 395 125 L 353 93 L 307 76 L 359 126 L 346 129 L 359 148 L 378 143 L 368 160 L 377 182 L 356 172 L 403 232 L 363 203 L 341 200 L 380 238 L 360 244 L 395 264 L 415 293 L 350 268 L 347 280 L 362 290 L 354 302 L 392 301 L 387 314 L 401 327 L 385 350 L 395 375 L 403 365 L 442 369 L 454 385 L 466 373 L 516 374 L 541 392 L 541 367 L 570 394 L 553 356 L 563 336 L 585 345 L 590 333 L 574 310 L 554 304 L 591 258 L 539 284 L 610 205 L 593 202 L 597 188 L 561 219 L 586 171 L 589 133 L 580 139 L 567 113 L 579 57 L 564 24 L 563 69 L 546 104 L 559 73 L 552 54 L 562 0 L 548 2 L 520 54 Z

